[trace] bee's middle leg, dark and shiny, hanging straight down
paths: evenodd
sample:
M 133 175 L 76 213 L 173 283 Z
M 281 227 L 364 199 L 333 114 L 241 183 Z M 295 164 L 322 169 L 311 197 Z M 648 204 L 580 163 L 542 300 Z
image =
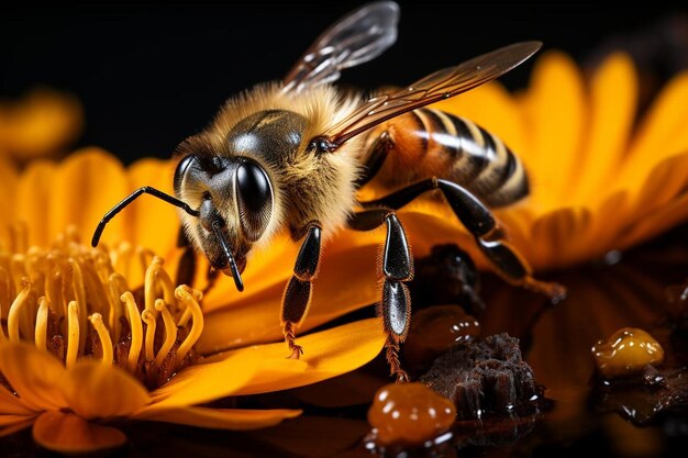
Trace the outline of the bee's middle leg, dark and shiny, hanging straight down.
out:
M 387 238 L 382 250 L 382 301 L 377 314 L 382 317 L 387 343 L 385 344 L 390 373 L 398 382 L 408 381 L 408 373 L 399 362 L 399 346 L 406 339 L 411 320 L 411 295 L 404 281 L 413 278 L 413 258 L 403 226 L 389 209 L 365 210 L 352 215 L 348 226 L 356 231 L 370 231 L 387 224 Z

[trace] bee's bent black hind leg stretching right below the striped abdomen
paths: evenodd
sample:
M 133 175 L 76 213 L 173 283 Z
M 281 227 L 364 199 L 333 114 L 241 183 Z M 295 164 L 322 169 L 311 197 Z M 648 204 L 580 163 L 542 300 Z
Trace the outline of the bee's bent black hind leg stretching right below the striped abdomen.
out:
M 433 177 L 360 204 L 364 208 L 381 205 L 398 210 L 422 193 L 435 189 L 442 191 L 456 217 L 473 234 L 480 250 L 504 280 L 544 293 L 554 301 L 566 297 L 566 289 L 561 284 L 533 278 L 528 262 L 502 238 L 502 232 L 490 210 L 468 190 L 453 181 Z

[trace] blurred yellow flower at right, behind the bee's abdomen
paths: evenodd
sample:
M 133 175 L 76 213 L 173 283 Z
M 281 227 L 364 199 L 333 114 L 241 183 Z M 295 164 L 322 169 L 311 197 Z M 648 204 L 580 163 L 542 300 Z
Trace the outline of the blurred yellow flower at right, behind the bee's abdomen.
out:
M 435 107 L 497 134 L 523 159 L 531 194 L 497 216 L 532 267 L 544 270 L 626 249 L 688 217 L 686 100 L 684 71 L 640 116 L 639 76 L 626 55 L 610 56 L 587 80 L 568 56 L 550 52 L 518 96 L 496 82 Z M 482 259 L 446 206 L 419 202 L 409 212 L 419 217 L 402 220 L 408 232 L 429 241 L 415 253 L 460 241 Z

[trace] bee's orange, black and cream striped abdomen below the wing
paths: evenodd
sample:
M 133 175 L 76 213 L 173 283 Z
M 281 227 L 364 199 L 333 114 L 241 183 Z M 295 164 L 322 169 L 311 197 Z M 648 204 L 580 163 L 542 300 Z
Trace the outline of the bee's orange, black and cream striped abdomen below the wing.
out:
M 375 182 L 399 188 L 428 177 L 455 181 L 490 206 L 513 203 L 529 192 L 519 158 L 497 136 L 443 111 L 418 109 L 382 124 L 391 149 Z

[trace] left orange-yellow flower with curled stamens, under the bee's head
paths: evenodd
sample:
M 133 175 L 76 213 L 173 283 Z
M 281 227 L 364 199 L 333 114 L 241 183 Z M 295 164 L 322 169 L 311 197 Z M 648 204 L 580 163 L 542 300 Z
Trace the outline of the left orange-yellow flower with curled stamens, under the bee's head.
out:
M 174 272 L 179 259 L 177 216 L 153 199 L 140 199 L 113 220 L 103 247 L 79 242 L 78 234 L 90 235 L 103 212 L 133 189 L 146 183 L 168 190 L 169 166 L 142 160 L 125 169 L 97 149 L 62 164 L 32 163 L 20 176 L 0 163 L 0 210 L 4 221 L 14 222 L 0 236 L 0 435 L 33 425 L 41 445 L 77 453 L 121 445 L 125 437 L 112 425 L 130 420 L 269 426 L 300 411 L 202 404 L 313 383 L 379 354 L 385 335 L 377 320 L 303 335 L 300 360 L 286 358 L 281 335 L 275 344 L 247 345 L 268 322 L 279 326 L 281 289 L 296 256 L 286 238 L 246 270 L 251 292 L 242 301 L 228 293 L 224 280 L 202 301 L 200 292 L 174 286 L 167 271 Z M 66 227 L 73 228 L 58 236 Z M 163 265 L 153 253 L 168 260 Z M 326 262 L 346 256 L 352 255 L 343 247 Z M 319 283 L 315 322 L 344 313 L 346 308 L 337 309 L 342 300 L 373 302 L 375 281 L 358 293 L 358 276 L 347 279 L 332 270 L 323 272 L 324 286 Z M 203 276 L 199 279 L 203 286 Z M 354 290 L 337 294 L 328 287 L 335 279 L 351 280 Z M 212 314 L 203 316 L 201 304 L 213 309 L 232 301 L 245 326 L 230 334 L 236 348 L 204 357 L 213 348 L 203 339 L 228 337 Z

